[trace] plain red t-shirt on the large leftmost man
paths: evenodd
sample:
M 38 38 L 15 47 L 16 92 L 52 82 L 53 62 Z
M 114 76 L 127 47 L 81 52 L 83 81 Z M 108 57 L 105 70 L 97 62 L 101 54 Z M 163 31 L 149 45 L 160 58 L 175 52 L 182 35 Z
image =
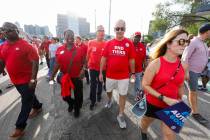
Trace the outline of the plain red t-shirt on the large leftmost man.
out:
M 0 59 L 4 61 L 11 81 L 18 85 L 31 80 L 32 61 L 39 61 L 39 56 L 34 47 L 19 39 L 14 44 L 5 42 L 1 46 Z

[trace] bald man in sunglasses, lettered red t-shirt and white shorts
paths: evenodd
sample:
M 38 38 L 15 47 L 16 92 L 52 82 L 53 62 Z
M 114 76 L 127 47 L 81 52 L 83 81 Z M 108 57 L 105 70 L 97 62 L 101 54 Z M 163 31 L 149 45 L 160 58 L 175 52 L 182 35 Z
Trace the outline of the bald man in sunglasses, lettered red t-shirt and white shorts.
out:
M 133 43 L 124 37 L 126 24 L 124 20 L 118 20 L 114 27 L 115 38 L 108 41 L 101 58 L 100 81 L 103 80 L 103 67 L 106 64 L 106 91 L 108 102 L 105 107 L 112 105 L 112 91 L 119 92 L 119 115 L 117 121 L 120 128 L 126 128 L 124 109 L 129 85 L 129 67 L 131 77 L 135 78 L 135 50 Z

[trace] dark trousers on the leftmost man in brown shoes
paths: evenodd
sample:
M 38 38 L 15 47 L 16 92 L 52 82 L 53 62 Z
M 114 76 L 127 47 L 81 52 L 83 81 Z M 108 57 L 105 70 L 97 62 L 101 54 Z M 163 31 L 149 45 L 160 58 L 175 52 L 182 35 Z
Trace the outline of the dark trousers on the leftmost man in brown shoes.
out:
M 24 129 L 27 125 L 27 119 L 32 108 L 39 109 L 42 104 L 37 100 L 35 89 L 30 89 L 28 83 L 15 85 L 21 95 L 21 111 L 16 121 L 16 128 Z

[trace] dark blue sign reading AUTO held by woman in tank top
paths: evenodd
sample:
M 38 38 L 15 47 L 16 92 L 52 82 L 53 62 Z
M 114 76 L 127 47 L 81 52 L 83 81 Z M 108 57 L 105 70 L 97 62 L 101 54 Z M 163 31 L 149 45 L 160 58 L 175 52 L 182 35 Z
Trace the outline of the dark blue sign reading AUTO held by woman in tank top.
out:
M 155 114 L 174 132 L 179 133 L 190 113 L 191 109 L 181 101 L 175 105 L 160 110 Z

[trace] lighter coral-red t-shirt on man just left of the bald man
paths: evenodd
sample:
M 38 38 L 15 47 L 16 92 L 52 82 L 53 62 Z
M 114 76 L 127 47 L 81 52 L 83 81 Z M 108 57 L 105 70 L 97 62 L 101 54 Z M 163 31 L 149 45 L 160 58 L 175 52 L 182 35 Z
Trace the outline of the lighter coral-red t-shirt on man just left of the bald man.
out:
M 102 57 L 102 51 L 106 45 L 105 41 L 97 41 L 91 40 L 88 43 L 88 52 L 87 52 L 87 60 L 88 60 L 88 68 L 92 70 L 100 70 L 100 62 Z

